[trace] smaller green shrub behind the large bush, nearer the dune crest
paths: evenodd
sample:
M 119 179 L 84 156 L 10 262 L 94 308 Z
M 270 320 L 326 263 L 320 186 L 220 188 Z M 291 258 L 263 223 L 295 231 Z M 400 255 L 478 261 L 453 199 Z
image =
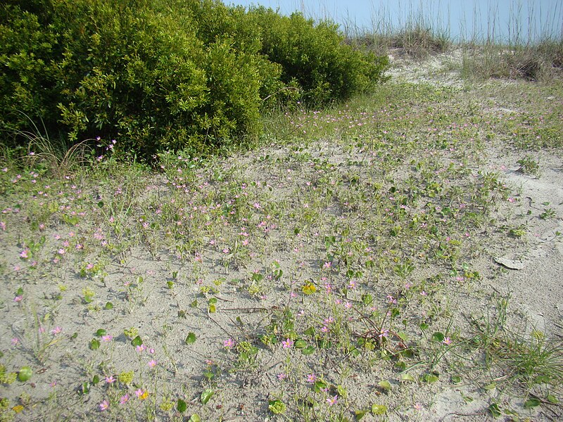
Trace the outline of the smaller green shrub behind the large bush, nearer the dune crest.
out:
M 262 53 L 282 68 L 281 80 L 308 103 L 342 101 L 383 79 L 386 57 L 346 45 L 337 25 L 314 25 L 300 13 L 281 16 L 263 7 L 249 12 L 262 28 Z

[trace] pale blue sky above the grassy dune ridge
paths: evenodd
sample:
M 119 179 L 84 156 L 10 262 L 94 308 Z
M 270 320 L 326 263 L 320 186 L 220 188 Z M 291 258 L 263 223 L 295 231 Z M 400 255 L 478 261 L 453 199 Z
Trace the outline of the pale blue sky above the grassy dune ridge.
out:
M 330 18 L 344 32 L 396 30 L 409 21 L 447 32 L 454 39 L 526 41 L 563 36 L 563 0 L 223 0 L 224 4 L 270 7 L 283 14 L 301 11 Z

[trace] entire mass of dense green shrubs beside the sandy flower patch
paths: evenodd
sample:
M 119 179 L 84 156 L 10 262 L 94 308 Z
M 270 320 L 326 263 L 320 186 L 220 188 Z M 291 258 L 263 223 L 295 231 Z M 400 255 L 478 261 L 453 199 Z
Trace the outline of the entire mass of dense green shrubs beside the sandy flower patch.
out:
M 260 111 L 288 92 L 328 103 L 379 82 L 385 60 L 342 41 L 331 23 L 213 0 L 11 0 L 0 124 L 41 120 L 51 139 L 118 139 L 143 158 L 213 151 L 257 136 Z

